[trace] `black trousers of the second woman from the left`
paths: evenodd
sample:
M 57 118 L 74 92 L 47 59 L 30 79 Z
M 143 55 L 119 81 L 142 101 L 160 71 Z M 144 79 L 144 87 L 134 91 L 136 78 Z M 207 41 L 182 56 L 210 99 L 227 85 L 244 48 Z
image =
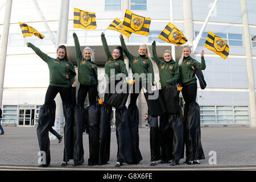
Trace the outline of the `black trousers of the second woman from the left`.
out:
M 89 97 L 90 105 L 96 103 L 96 97 L 98 94 L 97 85 L 82 85 L 79 86 L 79 92 L 77 94 L 77 104 L 84 106 L 84 101 L 87 96 Z

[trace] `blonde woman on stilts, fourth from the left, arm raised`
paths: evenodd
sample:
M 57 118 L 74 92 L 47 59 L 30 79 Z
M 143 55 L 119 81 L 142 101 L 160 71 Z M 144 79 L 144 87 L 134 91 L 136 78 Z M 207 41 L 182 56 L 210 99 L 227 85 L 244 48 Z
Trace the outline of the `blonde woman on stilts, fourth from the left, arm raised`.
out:
M 137 98 L 142 87 L 148 92 L 151 91 L 151 84 L 155 85 L 154 69 L 151 63 L 149 49 L 146 44 L 139 47 L 139 56 L 132 55 L 125 44 L 122 34 L 119 35 L 123 52 L 129 59 L 131 72 L 135 83 L 133 91 L 130 94 L 130 104 L 128 106 L 129 122 L 131 126 L 131 136 L 133 138 L 133 164 L 138 164 L 142 160 L 141 151 L 139 150 L 139 110 L 137 106 Z

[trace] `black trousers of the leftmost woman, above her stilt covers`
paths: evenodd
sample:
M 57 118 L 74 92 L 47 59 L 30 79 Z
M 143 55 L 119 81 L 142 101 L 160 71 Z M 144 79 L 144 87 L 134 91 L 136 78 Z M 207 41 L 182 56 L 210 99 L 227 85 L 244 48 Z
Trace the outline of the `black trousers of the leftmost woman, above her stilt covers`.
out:
M 71 88 L 61 87 L 61 86 L 48 86 L 46 91 L 46 98 L 44 100 L 44 105 L 51 105 L 54 98 L 60 93 L 61 100 L 64 104 L 71 103 Z

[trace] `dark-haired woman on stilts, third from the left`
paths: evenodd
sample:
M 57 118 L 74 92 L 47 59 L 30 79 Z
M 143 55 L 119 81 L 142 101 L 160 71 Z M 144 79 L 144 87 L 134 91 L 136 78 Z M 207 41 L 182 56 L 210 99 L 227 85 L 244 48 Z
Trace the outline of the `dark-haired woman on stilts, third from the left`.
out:
M 101 34 L 101 41 L 106 53 L 107 61 L 105 64 L 105 74 L 107 75 L 107 85 L 104 96 L 104 104 L 101 107 L 101 138 L 100 138 L 100 156 L 106 155 L 109 159 L 109 148 L 110 148 L 110 115 L 112 111 L 112 106 L 106 105 L 105 101 L 108 100 L 110 96 L 109 93 L 115 93 L 116 86 L 119 82 L 124 81 L 128 76 L 126 65 L 123 59 L 123 50 L 122 47 L 118 46 L 114 48 L 112 54 L 109 52 L 109 47 L 106 42 L 105 34 Z M 114 74 L 113 74 L 114 73 Z M 123 75 L 119 77 L 118 75 Z M 115 121 L 116 126 L 116 137 L 117 137 L 117 162 L 115 167 L 120 167 L 123 163 L 132 163 L 133 162 L 133 147 L 131 142 L 131 135 L 128 122 L 128 113 L 126 106 L 122 109 L 115 108 L 117 113 L 117 119 Z M 104 134 L 105 133 L 105 134 Z M 105 146 L 104 146 L 105 145 Z M 105 150 L 104 154 L 104 148 Z

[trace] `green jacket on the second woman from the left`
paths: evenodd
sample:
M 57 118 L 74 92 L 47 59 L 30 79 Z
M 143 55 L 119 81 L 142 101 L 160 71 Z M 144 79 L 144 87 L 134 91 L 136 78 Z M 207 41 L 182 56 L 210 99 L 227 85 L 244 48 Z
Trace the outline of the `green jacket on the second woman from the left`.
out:
M 78 80 L 82 85 L 98 85 L 97 65 L 82 57 L 79 40 L 76 33 L 73 33 L 76 47 Z

